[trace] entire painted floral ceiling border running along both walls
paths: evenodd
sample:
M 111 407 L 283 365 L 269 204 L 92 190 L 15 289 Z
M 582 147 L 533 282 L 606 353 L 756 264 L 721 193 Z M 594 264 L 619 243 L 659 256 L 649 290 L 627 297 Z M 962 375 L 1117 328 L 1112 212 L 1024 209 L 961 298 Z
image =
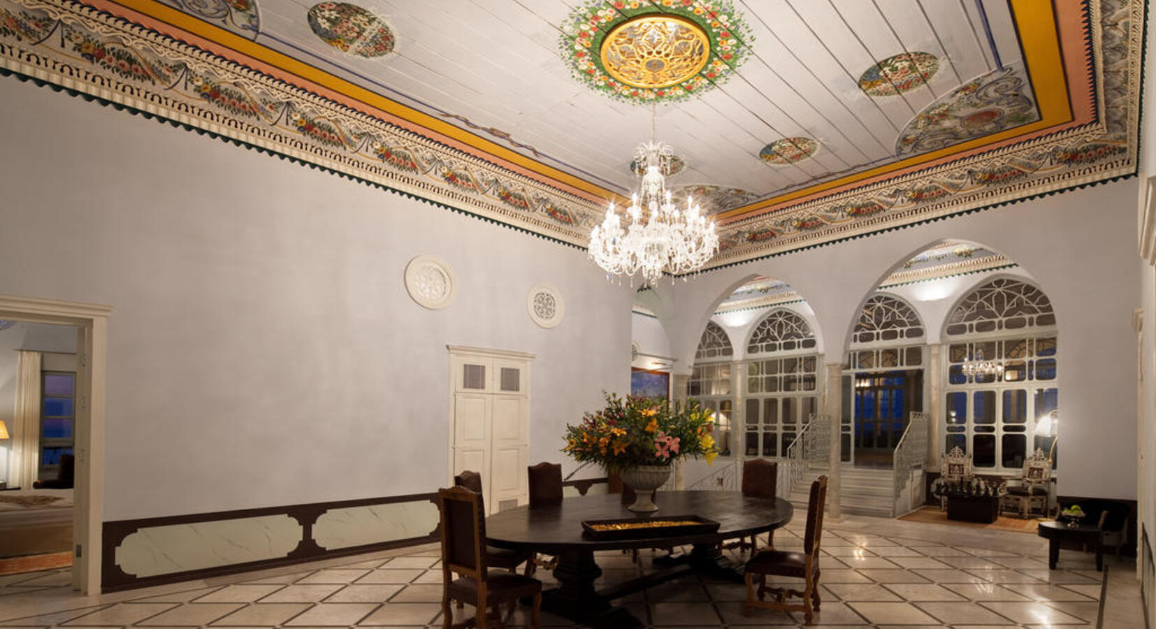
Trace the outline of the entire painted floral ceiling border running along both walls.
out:
M 720 224 L 722 250 L 709 268 L 1133 175 L 1146 5 L 1144 0 L 1084 5 L 1091 53 L 1087 72 L 1095 92 L 1090 123 L 729 220 Z M 392 111 L 380 110 L 378 116 L 379 110 L 355 108 L 362 103 L 331 97 L 335 92 L 326 89 L 303 88 L 210 52 L 216 47 L 198 47 L 101 8 L 74 0 L 0 0 L 0 17 L 5 73 L 564 244 L 585 246 L 588 229 L 603 212 L 599 194 L 592 192 L 596 186 L 579 182 L 575 187 L 526 166 L 532 160 L 511 161 L 499 150 L 479 148 L 492 142 L 458 148 L 461 135 L 436 139 L 445 132 L 416 123 L 394 124 L 391 120 L 399 114 Z M 188 40 L 203 42 L 197 36 Z M 468 148 L 476 150 L 464 150 Z

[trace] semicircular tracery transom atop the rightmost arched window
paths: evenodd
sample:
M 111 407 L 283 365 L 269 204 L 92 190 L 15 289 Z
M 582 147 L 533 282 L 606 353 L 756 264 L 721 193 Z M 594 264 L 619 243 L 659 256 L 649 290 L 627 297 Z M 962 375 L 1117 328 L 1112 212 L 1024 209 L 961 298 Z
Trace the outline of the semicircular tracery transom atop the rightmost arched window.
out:
M 1044 291 L 1013 278 L 996 278 L 976 288 L 947 319 L 947 334 L 1014 332 L 1055 325 L 1052 302 Z

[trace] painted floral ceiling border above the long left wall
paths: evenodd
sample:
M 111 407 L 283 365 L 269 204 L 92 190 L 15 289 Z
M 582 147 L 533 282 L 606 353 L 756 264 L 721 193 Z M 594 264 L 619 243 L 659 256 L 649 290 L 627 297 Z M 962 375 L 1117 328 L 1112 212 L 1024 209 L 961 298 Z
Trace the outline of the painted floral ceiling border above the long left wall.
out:
M 0 0 L 0 68 L 583 246 L 593 201 L 73 0 Z

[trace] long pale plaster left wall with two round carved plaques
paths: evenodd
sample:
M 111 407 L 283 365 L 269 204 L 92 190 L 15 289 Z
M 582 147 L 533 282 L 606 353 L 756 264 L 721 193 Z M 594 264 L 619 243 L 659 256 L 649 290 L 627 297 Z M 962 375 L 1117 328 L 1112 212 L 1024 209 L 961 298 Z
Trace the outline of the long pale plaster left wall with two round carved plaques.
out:
M 569 471 L 563 424 L 629 390 L 632 293 L 581 251 L 0 86 L 0 294 L 113 308 L 106 519 L 444 486 L 447 343 L 536 354 L 531 461 Z M 445 310 L 403 288 L 423 253 L 457 273 Z M 526 312 L 539 283 L 554 330 Z

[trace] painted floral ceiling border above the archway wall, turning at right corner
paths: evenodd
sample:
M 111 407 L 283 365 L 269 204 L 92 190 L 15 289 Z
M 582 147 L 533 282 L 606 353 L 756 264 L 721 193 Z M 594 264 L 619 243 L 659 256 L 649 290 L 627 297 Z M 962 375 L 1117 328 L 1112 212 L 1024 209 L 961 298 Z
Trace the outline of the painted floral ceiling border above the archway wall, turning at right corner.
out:
M 1097 119 L 720 225 L 711 268 L 1127 177 L 1139 155 L 1144 0 L 1088 2 Z M 1098 28 L 1091 28 L 1096 25 Z

